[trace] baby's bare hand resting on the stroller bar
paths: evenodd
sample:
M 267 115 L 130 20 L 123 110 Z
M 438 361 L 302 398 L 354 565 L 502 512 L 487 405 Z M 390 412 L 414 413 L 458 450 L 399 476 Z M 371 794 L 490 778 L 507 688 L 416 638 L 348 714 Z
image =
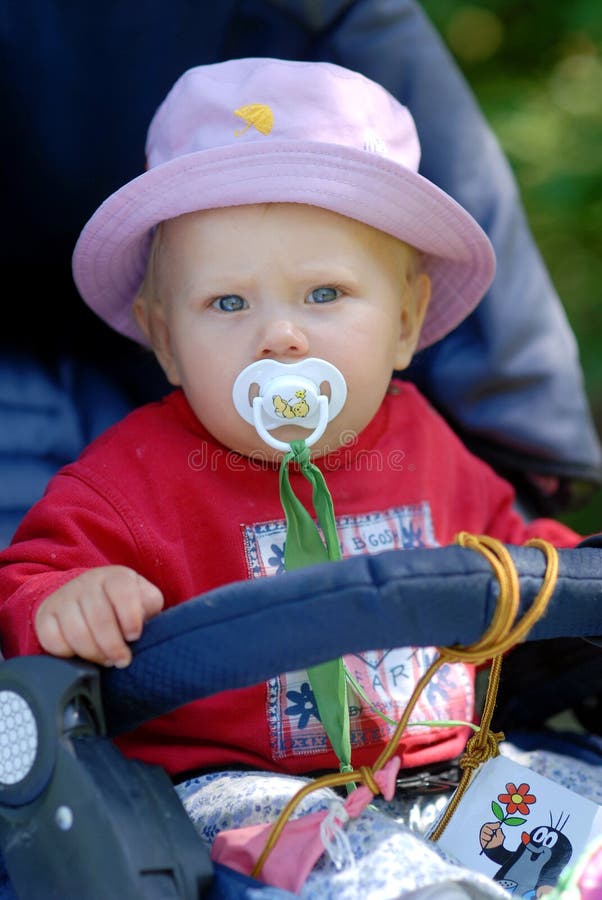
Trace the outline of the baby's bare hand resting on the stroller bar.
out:
M 83 572 L 53 594 L 37 611 L 38 640 L 53 656 L 81 656 L 124 668 L 132 661 L 126 641 L 163 608 L 161 591 L 125 566 Z

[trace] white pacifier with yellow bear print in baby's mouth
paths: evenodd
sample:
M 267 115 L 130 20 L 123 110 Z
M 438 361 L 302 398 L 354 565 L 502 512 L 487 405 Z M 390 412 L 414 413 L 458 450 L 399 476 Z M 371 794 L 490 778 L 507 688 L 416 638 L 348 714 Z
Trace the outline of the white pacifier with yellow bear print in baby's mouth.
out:
M 328 385 L 329 395 L 322 393 Z M 347 385 L 336 366 L 310 357 L 297 363 L 260 359 L 243 369 L 232 388 L 234 407 L 253 425 L 259 437 L 275 450 L 290 450 L 270 431 L 298 425 L 311 431 L 305 445 L 311 447 L 338 416 L 347 399 Z

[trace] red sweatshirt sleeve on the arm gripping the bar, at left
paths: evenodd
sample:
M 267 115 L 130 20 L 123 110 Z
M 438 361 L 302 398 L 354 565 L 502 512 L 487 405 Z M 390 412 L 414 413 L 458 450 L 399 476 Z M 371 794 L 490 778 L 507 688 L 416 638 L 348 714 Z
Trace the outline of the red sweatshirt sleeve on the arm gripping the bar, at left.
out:
M 11 545 L 0 553 L 4 655 L 42 653 L 34 628 L 42 601 L 96 566 L 124 565 L 138 571 L 142 543 L 119 497 L 111 497 L 70 467 L 55 476 Z

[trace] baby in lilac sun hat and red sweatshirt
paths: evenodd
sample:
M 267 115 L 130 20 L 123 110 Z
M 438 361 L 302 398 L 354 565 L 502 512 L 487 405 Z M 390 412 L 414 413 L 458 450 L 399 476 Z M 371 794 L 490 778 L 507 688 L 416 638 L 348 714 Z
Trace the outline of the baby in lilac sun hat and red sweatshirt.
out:
M 233 386 L 261 361 L 309 373 L 330 413 L 330 376 L 324 385 L 312 373 L 342 377 L 344 402 L 311 451 L 344 556 L 446 544 L 461 529 L 577 542 L 559 523 L 525 523 L 511 487 L 412 385 L 391 381 L 470 313 L 494 274 L 480 227 L 417 174 L 416 131 L 393 97 L 325 63 L 201 66 L 157 111 L 147 153 L 147 171 L 82 232 L 74 274 L 105 321 L 152 347 L 176 390 L 59 473 L 0 555 L 6 655 L 126 666 L 129 643 L 164 606 L 282 570 L 277 469 L 281 446 L 307 437 L 305 406 L 270 426 L 276 443 L 260 437 Z M 299 473 L 291 480 L 309 503 Z M 398 719 L 433 656 L 346 658 L 364 692 L 350 701 L 354 765 L 370 764 L 392 731 L 374 707 Z M 472 685 L 470 667 L 444 666 L 414 718 L 470 720 Z M 415 726 L 403 765 L 451 759 L 466 735 Z M 304 672 L 189 704 L 119 743 L 180 779 L 337 764 Z

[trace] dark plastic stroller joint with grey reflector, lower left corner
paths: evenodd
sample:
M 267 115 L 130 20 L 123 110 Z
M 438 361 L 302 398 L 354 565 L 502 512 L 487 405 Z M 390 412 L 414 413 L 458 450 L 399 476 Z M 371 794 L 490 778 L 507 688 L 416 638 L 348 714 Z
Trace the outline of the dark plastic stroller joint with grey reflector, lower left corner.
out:
M 0 666 L 0 854 L 24 900 L 198 900 L 208 852 L 166 773 L 105 736 L 95 667 Z

